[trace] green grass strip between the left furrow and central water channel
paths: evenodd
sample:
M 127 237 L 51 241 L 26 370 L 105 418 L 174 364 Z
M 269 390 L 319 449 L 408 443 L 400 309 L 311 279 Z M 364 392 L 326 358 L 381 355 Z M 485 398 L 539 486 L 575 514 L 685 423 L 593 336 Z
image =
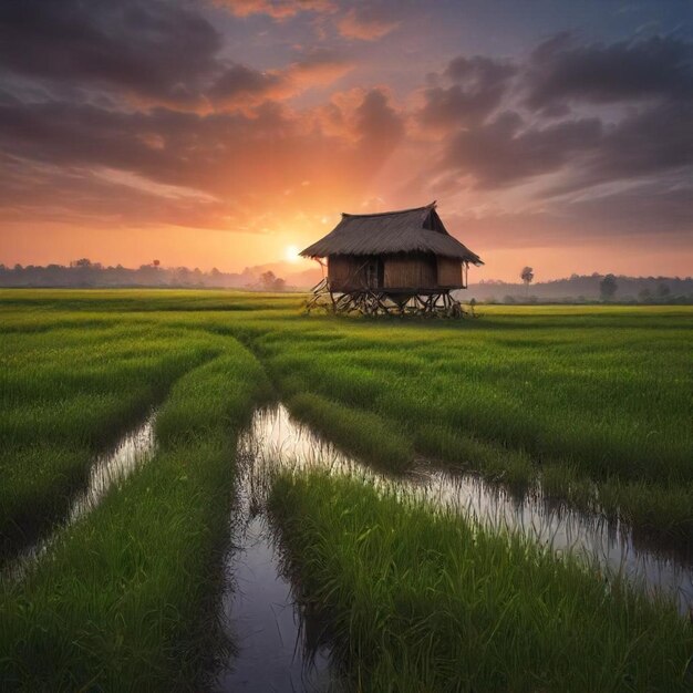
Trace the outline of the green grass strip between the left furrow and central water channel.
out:
M 0 582 L 0 680 L 19 691 L 195 690 L 216 616 L 235 438 L 269 395 L 237 342 L 183 376 L 158 452 L 65 529 L 23 581 Z

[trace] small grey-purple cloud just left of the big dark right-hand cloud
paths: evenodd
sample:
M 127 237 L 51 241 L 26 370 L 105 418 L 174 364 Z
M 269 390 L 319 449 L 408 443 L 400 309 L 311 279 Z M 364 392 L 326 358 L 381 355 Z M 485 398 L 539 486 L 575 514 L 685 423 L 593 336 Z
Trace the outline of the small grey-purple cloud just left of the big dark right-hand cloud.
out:
M 482 122 L 500 104 L 516 72 L 509 62 L 480 55 L 455 58 L 444 72 L 453 84 L 425 90 L 421 123 L 446 128 Z

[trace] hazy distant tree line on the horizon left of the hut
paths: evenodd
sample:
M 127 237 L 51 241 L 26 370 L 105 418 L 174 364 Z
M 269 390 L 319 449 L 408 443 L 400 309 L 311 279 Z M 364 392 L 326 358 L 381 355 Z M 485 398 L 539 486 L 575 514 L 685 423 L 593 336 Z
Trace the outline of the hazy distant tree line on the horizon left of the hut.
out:
M 246 269 L 242 272 L 221 272 L 213 268 L 208 272 L 199 268 L 161 266 L 159 260 L 141 265 L 136 269 L 122 265 L 105 267 L 80 258 L 64 265 L 45 267 L 0 263 L 0 287 L 46 288 L 106 288 L 106 287 L 170 287 L 170 288 L 234 288 L 256 291 L 285 291 L 287 282 L 272 271 L 260 272 Z

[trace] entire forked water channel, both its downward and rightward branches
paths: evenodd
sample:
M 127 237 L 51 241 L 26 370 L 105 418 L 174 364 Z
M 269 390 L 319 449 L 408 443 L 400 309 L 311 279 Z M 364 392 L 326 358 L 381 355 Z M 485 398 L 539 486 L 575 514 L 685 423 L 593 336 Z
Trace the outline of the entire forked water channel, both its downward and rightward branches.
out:
M 650 593 L 673 596 L 682 613 L 693 604 L 693 561 L 635 546 L 628 528 L 600 515 L 556 506 L 532 493 L 523 501 L 474 475 L 421 463 L 405 477 L 389 478 L 344 455 L 294 421 L 282 406 L 257 411 L 239 439 L 240 474 L 235 510 L 231 577 L 223 609 L 238 651 L 216 682 L 218 691 L 334 690 L 329 652 L 311 652 L 302 618 L 282 577 L 281 557 L 265 514 L 273 475 L 327 469 L 373 484 L 404 500 L 427 503 L 492 529 L 520 531 L 557 554 L 581 555 L 606 580 L 624 576 Z M 240 511 L 238 510 L 240 507 Z

